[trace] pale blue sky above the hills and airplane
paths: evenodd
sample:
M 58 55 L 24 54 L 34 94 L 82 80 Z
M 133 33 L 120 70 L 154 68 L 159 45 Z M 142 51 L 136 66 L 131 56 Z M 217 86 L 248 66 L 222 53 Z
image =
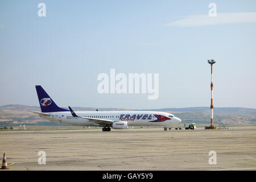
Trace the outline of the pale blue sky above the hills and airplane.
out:
M 46 17 L 38 16 L 40 2 Z M 256 108 L 254 20 L 164 26 L 208 15 L 211 2 L 217 15 L 256 12 L 256 1 L 1 1 L 0 105 L 38 106 L 42 85 L 65 107 L 209 106 L 214 59 L 214 106 Z M 159 73 L 158 100 L 99 94 L 97 76 L 110 68 Z

